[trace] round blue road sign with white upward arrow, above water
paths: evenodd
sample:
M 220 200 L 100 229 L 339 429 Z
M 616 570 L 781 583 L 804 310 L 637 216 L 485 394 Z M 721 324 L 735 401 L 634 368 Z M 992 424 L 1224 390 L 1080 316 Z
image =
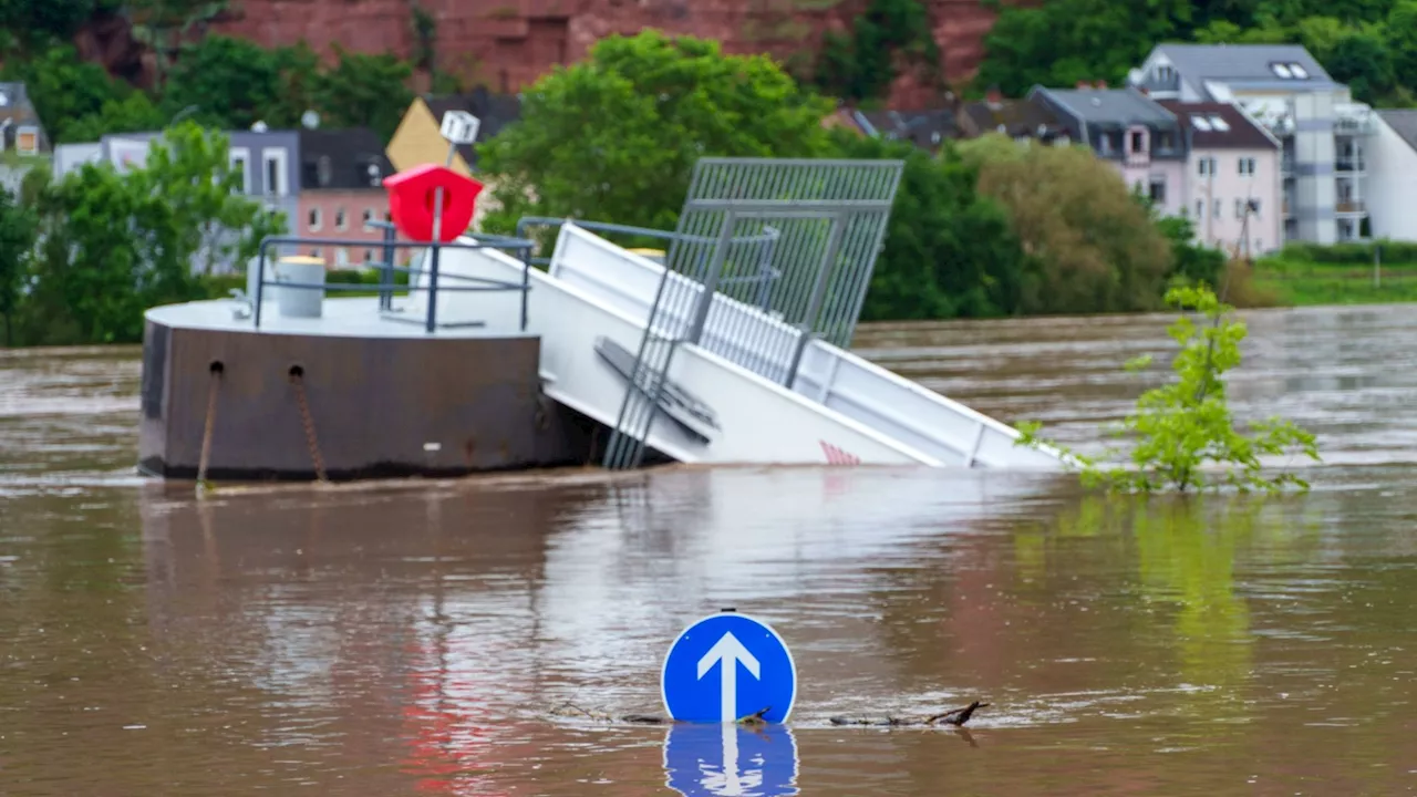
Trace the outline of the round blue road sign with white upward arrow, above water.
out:
M 659 689 L 680 722 L 734 722 L 762 709 L 762 719 L 782 722 L 796 699 L 796 664 L 767 623 L 726 611 L 679 634 Z

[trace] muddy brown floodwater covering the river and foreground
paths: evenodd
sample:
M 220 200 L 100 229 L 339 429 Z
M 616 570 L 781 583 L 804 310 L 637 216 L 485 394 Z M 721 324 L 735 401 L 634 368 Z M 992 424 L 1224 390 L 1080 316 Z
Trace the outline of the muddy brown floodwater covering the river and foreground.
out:
M 860 350 L 1095 448 L 1165 318 L 863 329 Z M 1417 791 L 1417 313 L 1251 316 L 1233 396 L 1314 491 L 665 468 L 230 488 L 133 475 L 136 349 L 0 352 L 0 794 Z M 782 632 L 785 726 L 662 712 L 723 607 Z M 992 703 L 966 733 L 833 715 Z M 734 786 L 737 788 L 734 788 Z

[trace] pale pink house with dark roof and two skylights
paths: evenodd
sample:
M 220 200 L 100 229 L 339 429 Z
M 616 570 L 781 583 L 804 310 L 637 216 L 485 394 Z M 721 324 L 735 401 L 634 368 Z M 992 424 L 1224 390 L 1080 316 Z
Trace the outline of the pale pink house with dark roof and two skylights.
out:
M 1186 214 L 1196 238 L 1240 257 L 1284 245 L 1281 145 L 1229 102 L 1159 102 L 1190 136 Z

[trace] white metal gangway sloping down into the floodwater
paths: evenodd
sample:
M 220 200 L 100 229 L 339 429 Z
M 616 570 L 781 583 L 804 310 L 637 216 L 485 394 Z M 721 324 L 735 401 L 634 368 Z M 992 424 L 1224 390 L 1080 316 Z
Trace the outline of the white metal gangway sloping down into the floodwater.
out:
M 520 279 L 493 250 L 446 250 L 441 274 Z M 567 223 L 547 272 L 531 272 L 527 332 L 541 338 L 546 393 L 605 424 L 619 421 L 635 353 L 665 267 Z M 670 272 L 679 289 L 703 285 Z M 415 277 L 425 285 L 427 272 Z M 422 303 L 418 292 L 408 302 Z M 509 294 L 438 295 L 438 318 L 489 328 L 520 312 Z M 659 309 L 660 319 L 666 312 Z M 750 335 L 744 335 L 748 330 Z M 1019 433 L 850 352 L 811 339 L 791 386 L 802 332 L 714 294 L 697 343 L 680 343 L 646 444 L 683 462 L 924 464 L 1058 468 L 1051 452 L 1016 447 Z

